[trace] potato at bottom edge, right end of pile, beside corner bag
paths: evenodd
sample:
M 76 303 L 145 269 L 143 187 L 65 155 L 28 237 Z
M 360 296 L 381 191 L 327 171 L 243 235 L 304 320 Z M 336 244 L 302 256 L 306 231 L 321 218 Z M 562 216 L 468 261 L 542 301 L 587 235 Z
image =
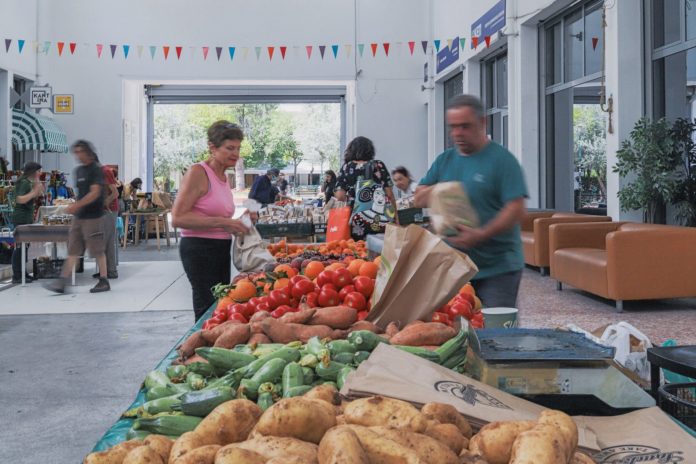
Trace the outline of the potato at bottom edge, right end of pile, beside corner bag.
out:
M 563 464 L 568 462 L 568 444 L 555 425 L 538 424 L 517 436 L 510 464 Z

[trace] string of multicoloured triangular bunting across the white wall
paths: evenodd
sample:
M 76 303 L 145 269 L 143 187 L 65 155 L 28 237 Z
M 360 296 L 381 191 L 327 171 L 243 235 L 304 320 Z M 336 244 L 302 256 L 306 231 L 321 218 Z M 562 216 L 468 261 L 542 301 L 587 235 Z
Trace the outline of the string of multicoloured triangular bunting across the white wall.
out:
M 481 39 L 483 39 L 483 42 L 485 43 L 486 47 L 490 47 L 491 44 L 491 37 L 486 36 L 486 37 L 472 37 L 471 38 L 471 43 L 474 47 L 474 49 L 477 49 L 479 45 L 481 44 Z M 466 38 L 459 38 L 459 39 L 447 39 L 445 41 L 447 43 L 447 47 L 451 50 L 452 47 L 459 47 L 462 50 L 464 49 L 464 44 L 466 43 Z M 411 56 L 414 56 L 414 54 L 420 53 L 420 50 L 422 50 L 422 54 L 426 54 L 428 51 L 428 47 L 431 46 L 431 42 L 428 40 L 421 40 L 421 41 L 408 41 L 406 42 L 408 45 L 408 53 Z M 51 50 L 55 50 L 55 53 L 58 54 L 59 57 L 63 56 L 70 56 L 70 55 L 75 55 L 76 53 L 84 53 L 84 52 L 89 52 L 89 50 L 96 51 L 96 56 L 97 58 L 102 58 L 102 55 L 104 55 L 104 49 L 106 48 L 107 54 L 111 56 L 112 59 L 115 59 L 117 56 L 122 55 L 124 59 L 128 59 L 129 56 L 132 57 L 133 54 L 131 53 L 131 49 L 133 46 L 130 44 L 103 44 L 103 43 L 97 43 L 97 44 L 90 44 L 90 43 L 81 43 L 78 44 L 77 42 L 64 42 L 64 41 L 57 41 L 53 42 L 50 40 L 45 40 L 45 41 L 31 41 L 31 46 L 27 47 L 29 45 L 28 41 L 25 39 L 5 39 L 5 53 L 10 53 L 11 51 L 16 50 L 20 55 L 27 49 L 29 48 L 30 50 L 34 50 L 35 53 L 42 53 L 44 55 L 48 55 Z M 67 48 L 66 48 L 67 45 Z M 358 43 L 355 46 L 355 50 L 353 49 L 353 44 L 332 44 L 332 45 L 305 45 L 304 50 L 305 50 L 305 55 L 307 57 L 307 60 L 312 59 L 312 55 L 314 54 L 315 57 L 319 56 L 321 60 L 325 60 L 326 58 L 333 56 L 333 59 L 338 59 L 341 48 L 345 51 L 345 58 L 350 58 L 353 53 L 357 53 L 361 58 L 365 56 L 365 54 L 373 58 L 379 57 L 389 57 L 389 56 L 394 56 L 393 50 L 396 49 L 397 51 L 400 51 L 402 46 L 404 45 L 404 42 L 371 42 L 371 43 Z M 435 49 L 436 52 L 440 52 L 440 49 L 443 46 L 443 41 L 440 39 L 435 39 L 432 41 L 432 48 Z M 195 47 L 195 46 L 190 46 L 186 47 L 189 50 L 190 56 L 195 57 L 199 51 L 201 53 L 201 56 L 203 57 L 204 61 L 208 60 L 208 57 L 210 56 L 210 51 L 214 50 L 215 51 L 215 57 L 217 58 L 217 61 L 220 61 L 224 56 L 229 56 L 230 61 L 234 61 L 235 56 L 238 55 L 238 51 L 241 51 L 242 57 L 244 60 L 246 60 L 249 56 L 249 51 L 254 50 L 255 55 L 256 55 L 256 60 L 259 61 L 261 60 L 261 57 L 263 55 L 268 56 L 269 61 L 273 61 L 274 57 L 276 60 L 281 60 L 285 61 L 286 57 L 288 56 L 288 50 L 292 49 L 294 51 L 294 56 L 300 55 L 300 50 L 303 47 L 300 46 L 292 46 L 288 47 L 287 45 L 280 45 L 280 46 L 266 46 L 266 47 L 233 47 L 233 46 L 227 46 L 227 47 L 210 47 L 210 46 L 201 46 L 201 47 Z M 174 59 L 174 56 L 176 56 L 176 60 L 180 61 L 182 59 L 182 55 L 184 52 L 184 47 L 181 45 L 149 45 L 149 46 L 144 46 L 144 45 L 136 45 L 135 49 L 137 50 L 137 56 L 138 59 L 142 59 L 143 57 L 143 52 L 145 50 L 149 51 L 150 54 L 150 59 L 154 60 L 158 56 L 158 52 L 161 50 L 161 56 L 164 58 L 164 60 L 169 60 L 170 59 L 170 54 L 173 51 L 174 53 L 171 54 L 171 58 Z M 318 51 L 318 53 L 317 53 Z M 327 53 L 328 52 L 328 53 Z M 391 55 L 390 55 L 391 53 Z

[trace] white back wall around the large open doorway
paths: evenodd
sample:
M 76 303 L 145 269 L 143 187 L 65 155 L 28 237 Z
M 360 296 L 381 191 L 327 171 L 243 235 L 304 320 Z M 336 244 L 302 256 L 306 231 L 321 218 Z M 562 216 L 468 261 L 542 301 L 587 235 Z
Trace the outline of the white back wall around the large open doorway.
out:
M 355 81 L 356 65 L 361 71 L 354 96 L 357 124 L 348 138 L 372 138 L 378 157 L 388 166 L 404 164 L 417 175 L 426 169 L 423 60 L 411 57 L 406 45 L 427 35 L 422 19 L 427 4 L 421 0 L 357 0 L 357 6 L 352 0 L 39 0 L 39 5 L 40 40 L 76 42 L 79 49 L 61 58 L 55 50 L 39 57 L 41 77 L 54 92 L 75 95 L 75 114 L 57 115 L 56 120 L 69 140 L 92 140 L 104 162 L 123 165 L 127 157 L 133 169 L 126 178 L 136 171 L 144 175 L 145 168 L 143 134 L 131 125 L 142 122 L 140 109 L 130 106 L 137 101 L 138 90 L 124 84 L 127 81 Z M 357 42 L 368 43 L 362 59 L 348 58 L 343 50 L 345 44 L 355 50 L 356 34 Z M 369 50 L 373 41 L 380 43 L 377 59 Z M 390 57 L 385 58 L 381 44 L 386 41 L 403 42 L 401 50 L 392 43 Z M 96 43 L 104 44 L 101 59 Z M 114 59 L 112 43 L 119 45 Z M 124 43 L 131 45 L 127 60 L 120 47 Z M 321 44 L 327 45 L 323 60 L 317 47 Z M 338 59 L 332 44 L 341 46 Z M 145 46 L 142 57 L 138 45 Z M 150 45 L 171 46 L 169 59 L 164 61 L 158 48 L 152 60 Z M 177 45 L 184 47 L 181 60 L 174 51 Z M 286 60 L 276 49 L 269 62 L 265 47 L 280 45 L 288 46 Z M 310 61 L 305 45 L 314 45 Z M 197 47 L 194 55 L 189 46 Z M 211 47 L 207 61 L 202 46 Z M 215 46 L 225 47 L 219 62 Z M 227 46 L 237 47 L 233 62 Z M 254 46 L 264 47 L 259 61 Z M 242 47 L 250 47 L 246 60 Z M 66 158 L 63 167 L 71 165 Z

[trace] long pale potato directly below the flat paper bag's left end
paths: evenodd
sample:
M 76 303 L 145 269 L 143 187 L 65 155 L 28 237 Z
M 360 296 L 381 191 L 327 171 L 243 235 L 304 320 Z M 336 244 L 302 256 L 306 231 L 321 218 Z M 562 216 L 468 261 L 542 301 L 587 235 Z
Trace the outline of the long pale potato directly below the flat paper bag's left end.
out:
M 368 427 L 386 425 L 416 433 L 428 427 L 425 416 L 411 404 L 381 396 L 355 400 L 346 405 L 343 415 L 349 424 Z

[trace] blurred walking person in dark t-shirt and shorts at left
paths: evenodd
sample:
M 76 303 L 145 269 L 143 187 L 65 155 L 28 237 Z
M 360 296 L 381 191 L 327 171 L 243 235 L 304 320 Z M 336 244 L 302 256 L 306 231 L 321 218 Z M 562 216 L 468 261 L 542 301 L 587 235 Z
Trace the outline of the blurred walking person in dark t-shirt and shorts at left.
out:
M 77 201 L 65 210 L 74 216 L 68 238 L 68 258 L 63 263 L 60 278 L 49 282 L 46 288 L 56 293 L 64 293 L 65 283 L 86 248 L 89 254 L 96 258 L 99 266 L 99 282 L 90 289 L 90 293 L 106 292 L 111 290 L 111 286 L 107 280 L 104 254 L 104 174 L 91 143 L 78 140 L 72 145 L 72 152 L 80 165 L 74 174 Z

